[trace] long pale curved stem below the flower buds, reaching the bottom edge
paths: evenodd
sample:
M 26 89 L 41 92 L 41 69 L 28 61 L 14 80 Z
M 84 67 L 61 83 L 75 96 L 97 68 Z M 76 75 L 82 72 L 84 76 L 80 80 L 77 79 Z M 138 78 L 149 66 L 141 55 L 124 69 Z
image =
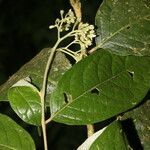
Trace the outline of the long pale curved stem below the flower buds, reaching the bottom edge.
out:
M 53 57 L 56 51 L 57 46 L 59 45 L 61 40 L 58 40 L 54 47 L 51 49 L 50 56 L 48 58 L 45 72 L 44 72 L 44 78 L 43 78 L 43 84 L 42 84 L 42 89 L 40 91 L 41 95 L 41 107 L 42 107 L 42 118 L 41 118 L 41 125 L 42 125 L 42 132 L 43 132 L 43 140 L 44 140 L 44 150 L 48 150 L 48 145 L 47 145 L 47 136 L 46 136 L 46 123 L 45 123 L 45 96 L 46 96 L 46 87 L 47 87 L 47 78 L 48 78 L 48 72 L 50 65 L 53 61 Z

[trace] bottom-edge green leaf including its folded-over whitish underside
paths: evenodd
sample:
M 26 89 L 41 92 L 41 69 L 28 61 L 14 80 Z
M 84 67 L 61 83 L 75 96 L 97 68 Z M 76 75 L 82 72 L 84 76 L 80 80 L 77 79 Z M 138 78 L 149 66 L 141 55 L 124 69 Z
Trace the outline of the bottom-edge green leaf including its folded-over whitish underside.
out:
M 114 137 L 112 139 L 112 136 Z M 109 126 L 94 133 L 77 150 L 89 149 L 122 149 L 127 150 L 126 137 L 122 131 L 120 123 L 115 121 Z

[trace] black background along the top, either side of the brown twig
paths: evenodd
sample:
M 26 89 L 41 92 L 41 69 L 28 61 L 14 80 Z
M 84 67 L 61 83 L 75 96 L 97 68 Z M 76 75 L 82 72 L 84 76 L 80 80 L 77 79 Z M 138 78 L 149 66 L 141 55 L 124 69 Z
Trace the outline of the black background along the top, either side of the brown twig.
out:
M 101 0 L 81 2 L 84 22 L 94 23 Z M 0 83 L 53 45 L 55 33 L 48 27 L 70 8 L 69 0 L 0 0 Z

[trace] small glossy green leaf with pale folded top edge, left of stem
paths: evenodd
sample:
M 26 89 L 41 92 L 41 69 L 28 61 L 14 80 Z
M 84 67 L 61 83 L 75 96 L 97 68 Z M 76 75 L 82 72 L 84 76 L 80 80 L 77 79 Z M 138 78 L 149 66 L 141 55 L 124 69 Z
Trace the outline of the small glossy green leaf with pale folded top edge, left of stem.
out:
M 8 99 L 15 113 L 26 123 L 41 125 L 41 101 L 38 89 L 20 80 L 8 91 Z

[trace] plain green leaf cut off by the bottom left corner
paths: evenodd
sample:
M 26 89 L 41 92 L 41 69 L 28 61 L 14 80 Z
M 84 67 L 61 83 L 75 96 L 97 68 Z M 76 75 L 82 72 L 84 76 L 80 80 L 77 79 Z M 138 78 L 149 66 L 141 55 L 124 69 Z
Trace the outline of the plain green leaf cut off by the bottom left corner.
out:
M 16 122 L 0 114 L 0 149 L 35 150 L 31 136 Z

